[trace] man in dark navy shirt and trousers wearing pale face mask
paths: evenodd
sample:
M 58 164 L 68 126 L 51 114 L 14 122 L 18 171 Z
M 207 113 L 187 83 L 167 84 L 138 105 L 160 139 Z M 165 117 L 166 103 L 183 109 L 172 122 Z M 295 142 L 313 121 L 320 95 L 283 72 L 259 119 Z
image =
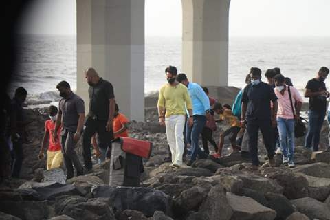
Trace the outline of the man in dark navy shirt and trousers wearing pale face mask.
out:
M 278 103 L 274 89 L 267 83 L 261 82 L 261 69 L 252 67 L 250 76 L 251 83 L 243 91 L 241 124 L 247 126 L 252 169 L 257 170 L 260 164 L 258 158 L 259 129 L 263 134 L 263 140 L 265 140 L 270 166 L 275 166 L 274 149 L 270 140 L 272 126 L 276 126 Z M 270 102 L 273 103 L 272 112 Z

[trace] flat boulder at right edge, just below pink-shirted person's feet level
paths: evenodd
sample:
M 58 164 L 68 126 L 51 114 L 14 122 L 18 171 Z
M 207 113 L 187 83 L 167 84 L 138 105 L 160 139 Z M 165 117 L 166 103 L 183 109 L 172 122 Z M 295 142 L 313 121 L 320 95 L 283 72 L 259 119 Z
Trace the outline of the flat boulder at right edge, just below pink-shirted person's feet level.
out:
M 297 166 L 292 169 L 296 173 L 304 173 L 312 177 L 330 178 L 330 164 L 315 163 Z

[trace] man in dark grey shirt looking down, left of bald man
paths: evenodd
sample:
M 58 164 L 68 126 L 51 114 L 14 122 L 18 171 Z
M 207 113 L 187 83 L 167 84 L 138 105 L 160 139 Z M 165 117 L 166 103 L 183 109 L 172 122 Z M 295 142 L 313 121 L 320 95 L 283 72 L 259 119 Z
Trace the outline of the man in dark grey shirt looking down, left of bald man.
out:
M 83 166 L 80 164 L 74 146 L 78 142 L 85 121 L 85 106 L 82 98 L 70 89 L 69 83 L 62 81 L 56 86 L 63 97 L 58 104 L 58 114 L 53 133 L 54 139 L 58 138 L 57 131 L 62 124 L 61 146 L 65 167 L 67 168 L 67 179 L 74 177 L 74 167 L 77 176 L 83 175 Z

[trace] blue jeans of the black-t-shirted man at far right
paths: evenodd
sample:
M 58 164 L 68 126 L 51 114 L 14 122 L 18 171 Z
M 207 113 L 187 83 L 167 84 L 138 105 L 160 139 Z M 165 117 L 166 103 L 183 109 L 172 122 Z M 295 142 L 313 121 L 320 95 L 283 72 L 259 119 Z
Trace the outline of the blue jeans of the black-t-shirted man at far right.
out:
M 318 151 L 320 132 L 324 121 L 325 112 L 314 110 L 308 111 L 308 132 L 305 140 L 305 148 L 311 148 L 311 142 L 313 142 L 313 150 Z

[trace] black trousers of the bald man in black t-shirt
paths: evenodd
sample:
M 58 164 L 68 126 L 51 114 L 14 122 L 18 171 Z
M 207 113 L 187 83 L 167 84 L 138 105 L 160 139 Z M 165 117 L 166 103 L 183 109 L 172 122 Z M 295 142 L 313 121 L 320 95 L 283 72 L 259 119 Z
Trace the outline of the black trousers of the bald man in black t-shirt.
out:
M 111 152 L 111 140 L 113 140 L 113 131 L 106 131 L 107 120 L 97 120 L 89 117 L 85 122 L 85 126 L 86 128 L 83 135 L 83 157 L 85 168 L 90 170 L 92 168 L 91 137 L 93 137 L 95 133 L 98 133 L 98 146 L 103 149 L 110 148 L 109 151 Z

